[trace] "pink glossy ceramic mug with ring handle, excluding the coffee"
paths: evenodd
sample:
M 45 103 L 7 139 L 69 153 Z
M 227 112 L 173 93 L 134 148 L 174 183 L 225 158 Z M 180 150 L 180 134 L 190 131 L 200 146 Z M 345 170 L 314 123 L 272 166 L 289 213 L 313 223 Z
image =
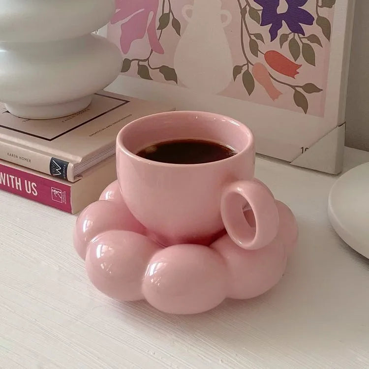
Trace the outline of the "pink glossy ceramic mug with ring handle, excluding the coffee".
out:
M 237 154 L 204 164 L 169 164 L 136 154 L 179 139 L 214 141 Z M 252 132 L 221 115 L 178 111 L 127 124 L 117 138 L 118 181 L 132 214 L 163 245 L 204 243 L 224 227 L 239 246 L 257 249 L 277 235 L 278 212 L 267 187 L 254 180 Z M 255 227 L 245 219 L 249 206 Z

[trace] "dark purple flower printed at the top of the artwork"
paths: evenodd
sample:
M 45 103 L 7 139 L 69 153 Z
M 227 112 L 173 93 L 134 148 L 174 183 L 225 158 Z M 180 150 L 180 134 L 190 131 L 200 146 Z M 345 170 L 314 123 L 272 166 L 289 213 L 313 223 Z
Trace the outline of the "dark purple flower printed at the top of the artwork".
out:
M 275 40 L 278 31 L 282 28 L 284 21 L 291 32 L 300 33 L 305 36 L 305 31 L 301 24 L 311 26 L 314 23 L 314 17 L 301 7 L 307 3 L 307 0 L 285 0 L 288 9 L 284 13 L 278 13 L 279 0 L 255 0 L 257 4 L 263 7 L 261 13 L 261 26 L 271 25 L 269 33 L 271 41 Z

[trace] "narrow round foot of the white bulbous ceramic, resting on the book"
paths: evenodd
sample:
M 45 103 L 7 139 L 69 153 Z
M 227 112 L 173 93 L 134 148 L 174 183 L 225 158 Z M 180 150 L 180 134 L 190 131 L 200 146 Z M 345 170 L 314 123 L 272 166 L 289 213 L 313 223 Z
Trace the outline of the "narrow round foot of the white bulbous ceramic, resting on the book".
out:
M 53 119 L 72 115 L 86 109 L 92 101 L 92 95 L 77 100 L 50 105 L 5 104 L 9 113 L 27 119 Z

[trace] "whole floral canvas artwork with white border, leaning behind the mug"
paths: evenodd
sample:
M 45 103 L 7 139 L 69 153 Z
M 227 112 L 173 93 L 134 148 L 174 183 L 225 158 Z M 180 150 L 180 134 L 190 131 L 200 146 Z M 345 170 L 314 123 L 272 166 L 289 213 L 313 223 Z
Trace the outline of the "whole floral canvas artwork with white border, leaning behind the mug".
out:
M 110 89 L 234 117 L 257 151 L 340 171 L 353 0 L 116 0 Z

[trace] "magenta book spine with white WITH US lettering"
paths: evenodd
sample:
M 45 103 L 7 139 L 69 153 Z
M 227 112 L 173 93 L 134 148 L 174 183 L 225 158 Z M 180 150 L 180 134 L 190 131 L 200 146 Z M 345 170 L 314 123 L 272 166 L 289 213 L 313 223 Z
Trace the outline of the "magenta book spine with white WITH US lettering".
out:
M 0 190 L 71 213 L 71 186 L 0 164 Z

